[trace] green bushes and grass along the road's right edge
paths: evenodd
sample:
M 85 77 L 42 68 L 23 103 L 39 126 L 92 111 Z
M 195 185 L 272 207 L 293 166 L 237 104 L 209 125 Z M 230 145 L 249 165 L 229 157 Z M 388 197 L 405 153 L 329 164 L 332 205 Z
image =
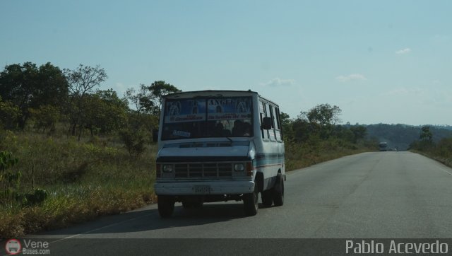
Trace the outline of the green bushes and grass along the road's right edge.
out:
M 410 151 L 421 153 L 452 167 L 452 137 L 435 142 L 430 127 L 424 126 L 421 131 L 419 139 L 410 144 Z

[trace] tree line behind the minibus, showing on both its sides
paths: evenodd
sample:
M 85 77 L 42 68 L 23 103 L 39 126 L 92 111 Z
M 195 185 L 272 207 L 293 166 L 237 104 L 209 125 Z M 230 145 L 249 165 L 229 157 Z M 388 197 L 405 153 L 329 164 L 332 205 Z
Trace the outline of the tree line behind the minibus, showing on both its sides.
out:
M 117 133 L 129 152 L 138 152 L 145 144 L 144 134 L 158 126 L 162 97 L 181 90 L 155 81 L 129 88 L 120 97 L 112 89 L 99 89 L 107 78 L 100 66 L 80 64 L 75 69 L 60 69 L 50 62 L 7 65 L 0 73 L 0 126 L 23 130 L 31 123 L 40 132 L 53 134 L 57 124 L 64 124 L 64 132 L 79 140 L 83 132 L 90 136 Z M 294 119 L 283 112 L 285 138 L 313 144 L 328 139 L 351 144 L 362 141 L 366 127 L 339 125 L 341 112 L 340 107 L 329 104 L 301 111 Z

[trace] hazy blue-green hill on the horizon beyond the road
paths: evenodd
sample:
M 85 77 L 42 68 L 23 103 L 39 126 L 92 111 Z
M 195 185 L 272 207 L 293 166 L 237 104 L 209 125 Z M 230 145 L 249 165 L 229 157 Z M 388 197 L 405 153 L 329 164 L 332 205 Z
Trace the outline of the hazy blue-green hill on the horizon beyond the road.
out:
M 369 124 L 367 127 L 367 139 L 375 138 L 378 141 L 386 141 L 389 148 L 407 150 L 408 146 L 419 139 L 423 126 L 407 124 Z M 428 125 L 433 134 L 433 141 L 452 137 L 452 127 L 448 125 Z

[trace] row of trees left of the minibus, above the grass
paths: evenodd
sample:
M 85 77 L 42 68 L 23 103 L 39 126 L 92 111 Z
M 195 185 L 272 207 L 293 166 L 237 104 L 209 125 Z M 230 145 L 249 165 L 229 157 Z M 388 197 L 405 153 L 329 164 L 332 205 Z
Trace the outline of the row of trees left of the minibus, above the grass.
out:
M 66 133 L 78 139 L 84 131 L 91 136 L 125 129 L 150 131 L 157 125 L 162 96 L 180 91 L 155 81 L 150 86 L 141 84 L 138 90 L 129 88 L 120 97 L 112 89 L 99 89 L 107 78 L 100 66 L 7 65 L 0 73 L 0 126 L 23 130 L 32 123 L 35 129 L 52 134 L 62 123 Z

